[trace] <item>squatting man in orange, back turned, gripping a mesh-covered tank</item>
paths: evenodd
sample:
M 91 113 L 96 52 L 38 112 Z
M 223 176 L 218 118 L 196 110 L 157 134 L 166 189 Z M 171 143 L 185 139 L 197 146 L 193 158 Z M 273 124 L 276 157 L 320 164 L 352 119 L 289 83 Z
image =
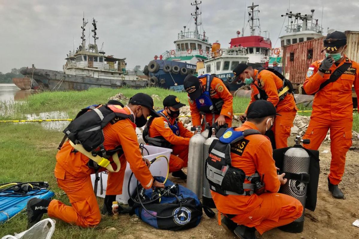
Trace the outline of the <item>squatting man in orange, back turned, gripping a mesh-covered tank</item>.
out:
M 264 136 L 274 125 L 276 116 L 279 115 L 269 101 L 252 102 L 247 111 L 248 120 L 242 126 L 234 128 L 234 131 L 254 129 L 261 134 L 248 135 L 230 145 L 231 166 L 244 171 L 244 184 L 253 183 L 247 176 L 255 177 L 257 173 L 262 183 L 264 182 L 265 192 L 261 195 L 222 195 L 211 190 L 216 208 L 225 216 L 222 226 L 232 232 L 234 230 L 242 239 L 256 238 L 256 230 L 263 234 L 272 228 L 289 224 L 298 219 L 303 212 L 303 206 L 297 199 L 277 193 L 280 185 L 284 185 L 287 179 L 284 178 L 285 173 L 277 175 L 271 143 Z

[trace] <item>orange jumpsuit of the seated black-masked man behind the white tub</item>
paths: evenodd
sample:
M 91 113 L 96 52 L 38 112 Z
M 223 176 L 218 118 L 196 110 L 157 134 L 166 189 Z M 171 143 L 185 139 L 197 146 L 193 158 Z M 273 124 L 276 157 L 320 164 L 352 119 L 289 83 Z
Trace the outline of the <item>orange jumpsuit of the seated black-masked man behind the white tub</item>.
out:
M 176 119 L 169 118 L 166 111 L 162 111 L 162 113 L 167 116 L 167 119 L 171 124 L 174 124 Z M 153 119 L 148 131 L 150 137 L 162 136 L 173 145 L 173 151 L 171 153 L 171 157 L 169 158 L 169 172 L 176 172 L 181 170 L 183 167 L 187 167 L 188 143 L 190 142 L 190 138 L 193 136 L 193 133 L 187 130 L 181 121 L 178 121 L 177 125 L 180 129 L 180 136 L 177 136 L 172 132 L 166 119 L 162 116 Z

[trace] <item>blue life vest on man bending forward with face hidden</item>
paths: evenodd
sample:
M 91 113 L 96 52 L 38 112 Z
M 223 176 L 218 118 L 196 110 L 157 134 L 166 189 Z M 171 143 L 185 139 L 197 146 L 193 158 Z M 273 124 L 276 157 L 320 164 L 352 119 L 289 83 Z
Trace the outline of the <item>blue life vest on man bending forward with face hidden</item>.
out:
M 203 76 L 199 76 L 198 78 L 201 79 L 204 77 L 206 77 L 206 89 L 201 94 L 201 96 L 198 99 L 196 99 L 197 109 L 201 113 L 220 114 L 224 101 L 221 98 L 211 99 L 211 95 L 210 95 L 210 89 L 211 89 L 210 86 L 211 86 L 211 82 L 214 78 L 214 75 L 206 74 Z

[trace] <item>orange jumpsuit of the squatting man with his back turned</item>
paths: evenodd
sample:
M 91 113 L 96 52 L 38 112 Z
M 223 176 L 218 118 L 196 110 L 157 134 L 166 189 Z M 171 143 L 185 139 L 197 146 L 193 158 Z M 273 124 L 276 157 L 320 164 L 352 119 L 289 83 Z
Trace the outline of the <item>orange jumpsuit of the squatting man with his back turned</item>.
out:
M 236 131 L 246 129 L 257 129 L 257 127 L 246 121 Z M 294 197 L 277 193 L 280 182 L 272 156 L 272 146 L 270 140 L 264 135 L 249 135 L 248 141 L 240 147 L 242 156 L 230 153 L 232 166 L 240 168 L 247 176 L 258 172 L 264 177 L 266 192 L 262 195 L 253 194 L 251 196 L 227 195 L 223 196 L 211 191 L 216 208 L 221 213 L 230 216 L 230 219 L 239 225 L 255 227 L 263 234 L 272 228 L 286 225 L 299 218 L 303 212 L 302 204 Z M 246 183 L 250 181 L 246 180 Z

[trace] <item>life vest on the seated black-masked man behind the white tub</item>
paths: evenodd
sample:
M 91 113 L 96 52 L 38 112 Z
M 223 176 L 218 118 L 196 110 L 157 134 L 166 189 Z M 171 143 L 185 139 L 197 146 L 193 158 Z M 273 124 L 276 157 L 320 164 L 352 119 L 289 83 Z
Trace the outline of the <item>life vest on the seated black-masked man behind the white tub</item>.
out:
M 178 127 L 177 119 L 174 120 L 174 124 L 171 124 L 171 122 L 169 121 L 168 116 L 163 114 L 163 110 L 157 111 L 157 113 L 159 115 L 161 115 L 162 118 L 164 118 L 167 121 L 168 126 L 172 130 L 172 132 L 175 135 L 180 136 L 180 128 Z M 171 147 L 172 146 L 171 143 L 169 143 L 167 140 L 165 140 L 165 138 L 163 138 L 162 136 L 156 136 L 156 137 L 150 137 L 149 136 L 149 129 L 150 129 L 150 126 L 151 126 L 153 120 L 154 120 L 154 117 L 151 116 L 151 118 L 149 118 L 149 120 L 147 121 L 146 127 L 145 127 L 145 129 L 143 130 L 143 133 L 142 133 L 143 140 L 147 144 L 150 144 L 150 145 L 153 145 L 153 146 L 162 147 L 162 148 Z

